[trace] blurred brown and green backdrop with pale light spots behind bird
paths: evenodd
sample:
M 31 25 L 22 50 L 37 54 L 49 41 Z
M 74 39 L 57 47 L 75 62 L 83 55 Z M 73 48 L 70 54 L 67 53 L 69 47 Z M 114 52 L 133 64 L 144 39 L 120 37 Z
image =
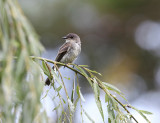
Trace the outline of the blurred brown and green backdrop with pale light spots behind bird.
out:
M 160 120 L 160 1 L 19 0 L 19 3 L 46 48 L 43 57 L 54 60 L 64 43 L 61 37 L 77 33 L 82 53 L 76 63 L 87 64 L 102 73 L 101 80 L 118 87 L 133 106 L 153 112 L 149 117 L 153 123 Z M 66 70 L 62 71 L 65 74 Z M 89 107 L 91 104 L 87 102 L 94 102 L 92 90 L 83 79 L 80 86 L 86 97 L 84 106 Z M 92 107 L 87 110 L 92 112 Z

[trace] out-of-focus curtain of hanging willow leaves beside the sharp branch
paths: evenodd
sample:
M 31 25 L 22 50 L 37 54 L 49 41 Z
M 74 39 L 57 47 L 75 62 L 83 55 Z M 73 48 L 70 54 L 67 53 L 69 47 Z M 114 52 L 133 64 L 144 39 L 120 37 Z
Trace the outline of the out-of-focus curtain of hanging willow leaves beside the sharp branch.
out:
M 30 59 L 43 47 L 16 0 L 0 0 L 0 120 L 47 122 L 40 96 L 40 67 Z M 16 59 L 15 59 L 16 57 Z

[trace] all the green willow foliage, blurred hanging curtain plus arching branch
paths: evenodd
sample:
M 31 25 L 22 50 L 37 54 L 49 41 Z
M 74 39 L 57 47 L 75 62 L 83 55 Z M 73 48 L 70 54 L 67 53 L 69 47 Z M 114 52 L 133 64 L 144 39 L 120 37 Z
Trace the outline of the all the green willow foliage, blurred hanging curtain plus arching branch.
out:
M 58 105 L 52 109 L 53 111 L 61 110 L 61 114 L 57 114 L 59 115 L 59 123 L 72 122 L 78 104 L 81 108 L 80 115 L 82 122 L 83 115 L 86 115 L 91 122 L 94 122 L 89 116 L 90 114 L 88 114 L 82 106 L 82 102 L 84 102 L 85 99 L 80 90 L 77 74 L 86 78 L 91 85 L 103 121 L 104 114 L 100 100 L 100 89 L 105 92 L 108 122 L 128 123 L 132 120 L 137 122 L 127 108 L 136 110 L 147 122 L 150 122 L 145 116 L 146 114 L 151 114 L 150 112 L 138 110 L 128 104 L 128 102 L 122 104 L 117 97 L 110 92 L 115 92 L 125 99 L 121 91 L 113 85 L 99 80 L 97 75 L 101 74 L 88 69 L 86 65 L 72 64 L 75 66 L 75 68 L 72 68 L 63 63 L 41 57 L 34 57 L 40 55 L 43 47 L 38 42 L 36 33 L 24 17 L 16 0 L 0 0 L 0 27 L 0 120 L 2 122 L 47 122 L 45 112 L 40 111 L 42 108 L 40 96 L 43 87 L 42 80 L 40 80 L 41 70 L 52 80 L 51 87 L 56 92 L 53 101 L 56 97 L 59 98 Z M 31 57 L 31 55 L 34 56 Z M 34 61 L 32 59 L 34 59 Z M 41 66 L 37 60 L 42 61 Z M 57 65 L 62 65 L 75 72 L 71 96 L 68 95 L 64 78 L 60 71 L 58 69 L 57 72 L 54 71 L 47 62 L 53 63 L 55 68 L 57 68 Z M 57 83 L 58 87 L 56 87 L 54 83 Z M 67 99 L 62 98 L 60 94 L 62 89 L 65 91 Z M 42 99 L 44 99 L 47 94 L 48 90 Z M 65 104 L 68 105 L 67 109 L 64 108 Z

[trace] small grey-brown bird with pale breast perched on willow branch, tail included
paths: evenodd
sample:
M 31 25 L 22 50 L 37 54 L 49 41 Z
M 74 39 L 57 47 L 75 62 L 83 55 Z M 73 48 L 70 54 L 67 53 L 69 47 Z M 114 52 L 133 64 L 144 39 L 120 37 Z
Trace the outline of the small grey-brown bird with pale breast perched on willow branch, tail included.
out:
M 55 61 L 65 64 L 72 63 L 81 52 L 80 37 L 75 33 L 69 33 L 62 38 L 65 39 L 66 42 L 59 48 Z M 54 69 L 54 66 L 52 69 Z M 49 78 L 47 78 L 45 84 L 50 85 L 50 83 Z

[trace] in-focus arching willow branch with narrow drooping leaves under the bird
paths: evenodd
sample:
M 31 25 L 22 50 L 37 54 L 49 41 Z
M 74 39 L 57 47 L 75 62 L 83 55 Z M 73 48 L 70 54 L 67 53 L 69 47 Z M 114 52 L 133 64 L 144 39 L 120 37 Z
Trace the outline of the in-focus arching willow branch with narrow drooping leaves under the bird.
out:
M 55 81 L 53 81 L 53 83 L 57 82 L 60 85 L 57 89 L 54 87 L 54 84 L 52 84 L 53 89 L 59 94 L 60 100 L 62 100 L 63 98 L 60 95 L 59 90 L 61 88 L 63 88 L 66 91 L 65 93 L 66 93 L 67 100 L 65 100 L 65 99 L 63 99 L 63 100 L 65 100 L 65 102 L 67 102 L 67 104 L 68 104 L 67 111 L 69 111 L 69 113 L 63 109 L 62 102 L 60 103 L 60 105 L 58 105 L 58 107 L 54 108 L 54 110 L 56 110 L 57 108 L 63 109 L 62 115 L 61 115 L 63 117 L 59 116 L 60 121 L 66 122 L 66 119 L 67 119 L 69 122 L 72 122 L 72 120 L 73 120 L 72 118 L 73 118 L 75 109 L 77 107 L 78 102 L 80 102 L 79 104 L 80 104 L 80 108 L 81 108 L 82 122 L 83 122 L 83 115 L 82 114 L 86 115 L 86 117 L 91 122 L 94 122 L 94 120 L 89 116 L 89 114 L 84 110 L 84 108 L 82 106 L 82 101 L 85 101 L 85 99 L 84 99 L 84 97 L 80 91 L 80 87 L 79 87 L 79 78 L 78 78 L 77 74 L 80 74 L 86 78 L 86 80 L 90 83 L 91 87 L 93 88 L 93 92 L 95 95 L 95 102 L 97 104 L 97 107 L 99 109 L 99 112 L 102 116 L 103 121 L 104 121 L 104 114 L 103 114 L 103 108 L 102 108 L 102 104 L 101 104 L 102 102 L 100 99 L 100 89 L 102 89 L 105 92 L 105 103 L 107 104 L 108 122 L 109 123 L 120 123 L 120 122 L 130 123 L 132 121 L 138 122 L 138 120 L 129 112 L 129 110 L 127 108 L 132 108 L 132 109 L 136 110 L 147 122 L 150 122 L 145 115 L 152 114 L 152 113 L 150 113 L 148 111 L 144 111 L 144 110 L 138 110 L 135 107 L 131 106 L 127 102 L 127 100 L 125 99 L 124 94 L 118 88 L 116 88 L 115 86 L 113 86 L 109 83 L 102 82 L 101 80 L 99 80 L 96 75 L 100 75 L 100 74 L 96 71 L 92 71 L 92 70 L 88 69 L 87 66 L 71 64 L 74 66 L 74 68 L 72 68 L 72 67 L 65 65 L 63 63 L 51 61 L 49 59 L 45 59 L 45 58 L 41 58 L 41 57 L 32 57 L 32 58 L 39 59 L 41 61 L 45 61 L 45 64 L 47 64 L 47 62 L 50 62 L 50 63 L 53 63 L 54 65 L 62 65 L 62 66 L 65 66 L 75 72 L 75 77 L 77 77 L 77 79 L 74 79 L 71 97 L 68 96 L 66 87 L 63 82 L 62 75 L 59 72 L 59 70 L 57 69 L 58 73 L 51 70 L 51 73 L 48 74 L 48 75 L 53 75 L 52 77 L 55 79 Z M 46 66 L 49 66 L 49 65 L 47 64 Z M 45 69 L 45 68 L 43 68 L 43 69 Z M 49 69 L 50 69 L 50 67 L 48 67 L 48 71 L 50 71 Z M 58 76 L 61 76 L 61 80 L 58 79 Z M 50 76 L 48 76 L 48 77 L 51 78 Z M 64 78 L 66 78 L 66 77 L 64 77 Z M 76 84 L 77 84 L 77 87 L 76 87 L 77 99 L 75 99 L 75 85 Z M 126 104 L 122 104 L 116 96 L 111 94 L 110 91 L 112 91 L 112 93 L 114 92 L 117 95 L 119 95 L 120 97 L 122 97 L 126 101 Z

